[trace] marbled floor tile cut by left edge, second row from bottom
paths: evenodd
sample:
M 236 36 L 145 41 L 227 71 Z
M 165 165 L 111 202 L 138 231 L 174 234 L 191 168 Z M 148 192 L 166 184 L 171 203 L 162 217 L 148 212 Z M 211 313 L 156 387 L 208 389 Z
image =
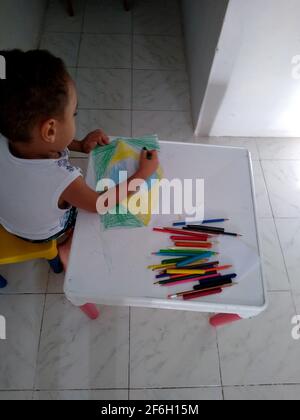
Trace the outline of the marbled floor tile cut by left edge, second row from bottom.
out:
M 0 390 L 33 389 L 44 295 L 0 296 L 6 340 L 0 340 Z

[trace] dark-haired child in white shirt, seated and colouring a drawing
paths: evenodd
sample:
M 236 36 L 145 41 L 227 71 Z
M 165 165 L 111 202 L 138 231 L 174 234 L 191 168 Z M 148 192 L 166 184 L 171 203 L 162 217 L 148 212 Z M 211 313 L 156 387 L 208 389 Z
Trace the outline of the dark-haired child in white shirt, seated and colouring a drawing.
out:
M 77 95 L 63 61 L 47 51 L 0 51 L 0 224 L 26 240 L 62 237 L 76 208 L 96 213 L 99 194 L 69 161 L 69 150 L 89 153 L 109 139 L 102 130 L 74 140 Z M 142 152 L 134 178 L 158 167 L 157 153 Z

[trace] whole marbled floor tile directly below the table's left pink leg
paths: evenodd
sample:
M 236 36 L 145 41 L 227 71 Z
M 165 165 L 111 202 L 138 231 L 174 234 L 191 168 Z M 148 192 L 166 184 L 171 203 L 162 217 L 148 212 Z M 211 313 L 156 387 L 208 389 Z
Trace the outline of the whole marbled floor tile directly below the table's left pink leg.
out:
M 128 308 L 103 307 L 91 322 L 63 296 L 48 295 L 36 388 L 127 388 L 128 325 Z

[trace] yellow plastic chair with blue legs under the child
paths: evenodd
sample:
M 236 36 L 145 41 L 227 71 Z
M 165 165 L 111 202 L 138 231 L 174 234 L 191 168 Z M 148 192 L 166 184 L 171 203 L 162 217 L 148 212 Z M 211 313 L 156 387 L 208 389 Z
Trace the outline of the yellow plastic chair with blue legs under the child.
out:
M 34 244 L 23 241 L 7 232 L 0 225 L 0 265 L 15 264 L 24 261 L 46 259 L 54 273 L 61 273 L 63 265 L 57 251 L 56 241 Z M 0 288 L 7 285 L 7 280 L 0 275 Z

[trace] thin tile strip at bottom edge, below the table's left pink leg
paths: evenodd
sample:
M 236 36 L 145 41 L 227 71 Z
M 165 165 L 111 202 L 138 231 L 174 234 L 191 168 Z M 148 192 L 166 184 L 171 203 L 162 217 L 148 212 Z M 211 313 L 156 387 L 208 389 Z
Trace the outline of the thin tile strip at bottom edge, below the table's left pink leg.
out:
M 102 400 L 128 400 L 126 390 L 82 390 L 82 391 L 36 391 L 34 400 L 42 401 L 102 401 Z

